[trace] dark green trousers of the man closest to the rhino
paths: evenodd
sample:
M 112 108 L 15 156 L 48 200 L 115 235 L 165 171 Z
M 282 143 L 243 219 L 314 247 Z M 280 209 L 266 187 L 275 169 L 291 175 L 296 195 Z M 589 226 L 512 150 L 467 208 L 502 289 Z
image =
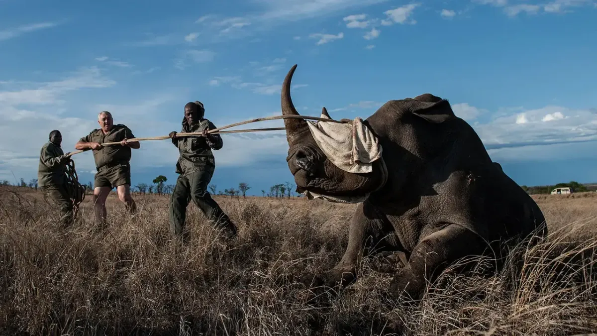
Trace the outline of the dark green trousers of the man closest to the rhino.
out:
M 176 236 L 183 233 L 186 208 L 191 200 L 207 216 L 216 230 L 224 229 L 227 239 L 236 235 L 236 226 L 207 191 L 212 173 L 210 169 L 199 169 L 186 175 L 180 175 L 176 180 L 176 186 L 170 196 L 168 211 L 170 228 Z

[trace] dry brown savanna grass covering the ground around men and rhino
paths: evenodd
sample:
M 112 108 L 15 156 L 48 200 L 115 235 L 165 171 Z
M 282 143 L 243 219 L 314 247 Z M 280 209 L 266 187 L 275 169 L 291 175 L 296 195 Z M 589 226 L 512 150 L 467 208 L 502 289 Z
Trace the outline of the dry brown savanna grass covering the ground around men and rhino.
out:
M 217 197 L 239 227 L 225 243 L 189 205 L 170 236 L 167 196 L 110 196 L 108 221 L 57 225 L 41 194 L 0 190 L 2 335 L 580 335 L 597 332 L 597 193 L 535 196 L 550 236 L 501 273 L 446 272 L 419 306 L 386 301 L 384 258 L 336 296 L 294 279 L 333 267 L 354 205 Z

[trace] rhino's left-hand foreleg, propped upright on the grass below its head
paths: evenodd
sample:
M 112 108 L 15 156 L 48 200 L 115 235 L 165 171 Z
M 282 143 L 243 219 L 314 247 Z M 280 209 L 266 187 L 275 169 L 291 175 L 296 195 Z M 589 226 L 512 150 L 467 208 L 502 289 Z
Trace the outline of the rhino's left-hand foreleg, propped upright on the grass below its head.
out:
M 381 251 L 399 249 L 398 236 L 389 222 L 383 221 L 369 204 L 361 203 L 350 222 L 348 245 L 338 264 L 331 270 L 304 276 L 307 286 L 343 287 L 356 280 L 362 258 Z

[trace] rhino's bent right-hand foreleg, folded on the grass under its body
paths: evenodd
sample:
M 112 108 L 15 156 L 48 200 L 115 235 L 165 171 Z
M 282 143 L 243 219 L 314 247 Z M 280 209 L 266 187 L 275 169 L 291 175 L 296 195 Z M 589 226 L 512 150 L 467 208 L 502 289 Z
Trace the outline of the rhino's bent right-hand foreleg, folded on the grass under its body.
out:
M 433 282 L 442 271 L 460 258 L 482 255 L 487 245 L 472 231 L 451 224 L 425 237 L 415 246 L 406 267 L 401 268 L 390 283 L 394 297 L 418 301 L 427 282 Z

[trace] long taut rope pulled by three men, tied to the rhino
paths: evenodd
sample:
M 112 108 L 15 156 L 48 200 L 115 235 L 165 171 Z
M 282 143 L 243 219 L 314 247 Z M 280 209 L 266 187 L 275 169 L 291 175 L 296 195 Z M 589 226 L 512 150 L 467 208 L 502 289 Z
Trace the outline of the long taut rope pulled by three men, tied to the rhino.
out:
M 273 131 L 273 130 L 285 130 L 285 127 L 273 127 L 273 128 L 269 128 L 269 129 L 245 129 L 245 130 L 232 130 L 232 131 L 222 131 L 224 129 L 229 129 L 230 127 L 235 127 L 235 126 L 240 126 L 240 125 L 245 125 L 245 124 L 250 124 L 250 123 L 257 123 L 258 121 L 267 121 L 267 120 L 278 120 L 278 119 L 310 119 L 310 120 L 318 120 L 318 121 L 329 121 L 330 123 L 340 123 L 340 124 L 344 124 L 344 123 L 350 123 L 350 120 L 333 120 L 333 119 L 328 119 L 328 118 L 319 118 L 319 117 L 309 117 L 306 115 L 296 115 L 296 114 L 290 114 L 290 115 L 274 115 L 273 117 L 264 117 L 264 118 L 256 118 L 256 119 L 251 119 L 251 120 L 246 120 L 246 121 L 241 121 L 240 123 L 234 123 L 234 124 L 229 124 L 223 127 L 219 127 L 217 129 L 213 129 L 213 130 L 208 130 L 207 133 L 208 134 L 228 134 L 228 133 L 247 133 L 247 132 L 262 132 L 262 131 Z M 186 137 L 186 136 L 201 136 L 201 133 L 176 133 L 176 138 L 182 138 L 182 137 Z M 128 142 L 137 142 L 137 141 L 145 141 L 145 140 L 165 140 L 165 139 L 170 139 L 170 136 L 153 136 L 152 138 L 133 138 L 133 139 L 128 139 Z M 119 145 L 120 142 L 106 142 L 106 143 L 102 143 L 102 146 L 112 146 L 112 145 Z M 75 154 L 79 154 L 82 152 L 87 152 L 90 151 L 91 148 L 87 148 L 87 149 L 82 149 L 81 151 L 75 151 L 75 152 L 70 152 L 69 157 L 71 157 L 72 155 Z

